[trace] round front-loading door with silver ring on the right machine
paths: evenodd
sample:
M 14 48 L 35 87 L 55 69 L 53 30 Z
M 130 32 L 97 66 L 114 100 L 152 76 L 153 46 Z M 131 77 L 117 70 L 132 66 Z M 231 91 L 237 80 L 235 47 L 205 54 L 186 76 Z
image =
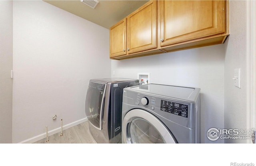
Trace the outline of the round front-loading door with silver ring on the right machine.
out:
M 123 119 L 124 143 L 176 143 L 167 127 L 143 109 L 130 110 Z

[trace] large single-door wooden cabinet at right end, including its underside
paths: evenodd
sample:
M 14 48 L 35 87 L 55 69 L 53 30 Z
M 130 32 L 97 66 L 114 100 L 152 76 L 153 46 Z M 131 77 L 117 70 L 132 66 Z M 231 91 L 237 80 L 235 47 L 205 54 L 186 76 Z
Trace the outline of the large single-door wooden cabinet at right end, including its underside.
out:
M 227 1 L 158 1 L 159 49 L 165 52 L 224 43 Z

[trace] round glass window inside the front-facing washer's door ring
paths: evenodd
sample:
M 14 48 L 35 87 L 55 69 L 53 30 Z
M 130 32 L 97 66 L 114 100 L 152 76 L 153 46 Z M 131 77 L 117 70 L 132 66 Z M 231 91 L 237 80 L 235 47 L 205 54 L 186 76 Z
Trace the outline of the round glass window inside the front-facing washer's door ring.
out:
M 161 134 L 145 119 L 134 119 L 129 130 L 131 143 L 165 143 Z

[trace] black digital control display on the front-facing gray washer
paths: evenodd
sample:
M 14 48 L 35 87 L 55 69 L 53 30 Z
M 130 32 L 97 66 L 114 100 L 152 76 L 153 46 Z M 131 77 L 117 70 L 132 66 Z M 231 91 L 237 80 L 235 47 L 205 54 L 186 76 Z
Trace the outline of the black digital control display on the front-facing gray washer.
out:
M 188 105 L 161 100 L 161 111 L 173 113 L 182 117 L 188 117 Z

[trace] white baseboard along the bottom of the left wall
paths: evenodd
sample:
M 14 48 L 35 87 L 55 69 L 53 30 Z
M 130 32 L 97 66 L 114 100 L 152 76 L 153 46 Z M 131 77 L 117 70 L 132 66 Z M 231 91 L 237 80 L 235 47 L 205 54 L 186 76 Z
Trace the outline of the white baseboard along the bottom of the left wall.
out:
M 73 126 L 75 126 L 75 125 L 78 125 L 78 124 L 80 124 L 80 123 L 83 123 L 83 122 L 85 122 L 85 121 L 87 121 L 87 120 L 88 120 L 88 119 L 87 119 L 87 117 L 86 117 L 86 118 L 80 119 L 80 120 L 78 120 L 78 121 L 74 121 L 74 122 L 72 122 L 72 123 L 69 123 L 69 124 L 67 124 L 67 125 L 62 126 L 62 130 L 68 129 L 68 128 L 70 128 L 70 127 L 73 127 Z M 60 130 L 61 130 L 61 127 L 58 127 L 58 128 L 53 129 L 53 130 L 51 130 L 51 131 L 48 131 L 48 136 L 54 135 L 54 134 L 56 134 L 56 133 L 59 133 Z M 26 139 L 26 140 L 21 141 L 21 142 L 19 142 L 19 143 L 34 143 L 34 142 L 36 142 L 36 141 L 39 141 L 39 140 L 41 140 L 41 139 L 44 139 L 45 137 L 46 137 L 46 133 L 42 133 L 42 134 L 40 134 L 40 135 L 37 135 L 37 136 L 32 137 L 32 138 L 30 138 L 30 139 Z

